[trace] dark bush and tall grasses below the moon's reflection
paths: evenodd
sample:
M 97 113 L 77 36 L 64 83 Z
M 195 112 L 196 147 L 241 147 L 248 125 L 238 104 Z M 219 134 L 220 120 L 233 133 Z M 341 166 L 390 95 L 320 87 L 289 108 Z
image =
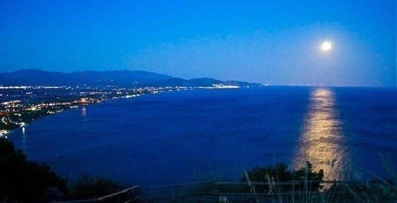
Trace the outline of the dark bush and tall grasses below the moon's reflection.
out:
M 367 182 L 324 181 L 323 178 L 324 171 L 313 171 L 310 162 L 297 171 L 288 170 L 284 163 L 276 163 L 245 172 L 241 181 L 251 185 L 250 191 L 255 195 L 255 202 L 397 202 L 396 177 Z

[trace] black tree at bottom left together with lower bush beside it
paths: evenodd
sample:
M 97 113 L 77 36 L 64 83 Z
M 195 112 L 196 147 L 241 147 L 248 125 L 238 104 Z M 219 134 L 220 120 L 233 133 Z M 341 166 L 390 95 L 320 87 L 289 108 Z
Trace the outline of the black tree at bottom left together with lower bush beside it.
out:
M 84 174 L 79 180 L 66 181 L 46 164 L 28 161 L 21 150 L 0 137 L 0 202 L 52 202 L 102 197 L 125 186 Z

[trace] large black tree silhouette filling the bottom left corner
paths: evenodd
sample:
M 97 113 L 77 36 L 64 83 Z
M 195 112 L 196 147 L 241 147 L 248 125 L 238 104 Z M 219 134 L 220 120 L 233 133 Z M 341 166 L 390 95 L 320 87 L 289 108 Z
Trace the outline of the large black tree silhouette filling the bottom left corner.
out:
M 0 137 L 0 169 L 0 201 L 51 201 L 67 192 L 65 181 L 49 166 L 28 161 L 4 137 Z

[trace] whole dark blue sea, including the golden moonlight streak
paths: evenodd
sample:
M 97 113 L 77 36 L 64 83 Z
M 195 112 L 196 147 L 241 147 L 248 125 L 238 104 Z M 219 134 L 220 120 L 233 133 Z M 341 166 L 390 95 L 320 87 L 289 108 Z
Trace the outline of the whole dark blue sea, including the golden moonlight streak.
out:
M 68 179 L 87 172 L 140 185 L 238 180 L 257 165 L 310 160 L 327 179 L 365 180 L 396 172 L 397 90 L 163 92 L 48 116 L 8 137 Z

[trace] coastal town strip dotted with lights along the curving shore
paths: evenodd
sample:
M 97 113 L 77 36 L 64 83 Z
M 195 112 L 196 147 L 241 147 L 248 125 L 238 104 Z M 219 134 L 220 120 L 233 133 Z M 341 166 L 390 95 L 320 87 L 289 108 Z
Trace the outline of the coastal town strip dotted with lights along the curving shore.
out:
M 9 130 L 48 114 L 63 112 L 103 101 L 131 98 L 162 91 L 189 89 L 239 88 L 238 85 L 212 84 L 204 87 L 69 87 L 69 86 L 0 86 L 0 136 Z

